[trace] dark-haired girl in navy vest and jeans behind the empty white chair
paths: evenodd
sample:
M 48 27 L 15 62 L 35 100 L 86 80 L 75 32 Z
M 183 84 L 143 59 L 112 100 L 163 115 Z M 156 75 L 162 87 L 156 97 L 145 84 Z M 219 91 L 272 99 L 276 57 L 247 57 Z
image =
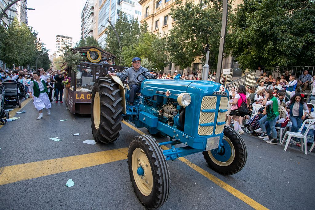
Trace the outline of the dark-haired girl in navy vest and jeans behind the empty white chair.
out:
M 308 114 L 308 108 L 304 102 L 304 94 L 296 93 L 286 103 L 287 111 L 290 114 L 290 121 L 292 122 L 291 132 L 297 132 L 301 128 L 305 116 Z M 305 114 L 303 114 L 303 110 Z

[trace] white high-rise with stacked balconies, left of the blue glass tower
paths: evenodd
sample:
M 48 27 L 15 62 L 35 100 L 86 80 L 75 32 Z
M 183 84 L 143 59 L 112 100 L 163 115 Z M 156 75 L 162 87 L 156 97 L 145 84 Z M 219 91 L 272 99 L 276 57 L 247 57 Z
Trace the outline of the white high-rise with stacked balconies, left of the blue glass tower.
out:
M 94 30 L 94 0 L 87 0 L 81 14 L 81 39 L 93 37 Z

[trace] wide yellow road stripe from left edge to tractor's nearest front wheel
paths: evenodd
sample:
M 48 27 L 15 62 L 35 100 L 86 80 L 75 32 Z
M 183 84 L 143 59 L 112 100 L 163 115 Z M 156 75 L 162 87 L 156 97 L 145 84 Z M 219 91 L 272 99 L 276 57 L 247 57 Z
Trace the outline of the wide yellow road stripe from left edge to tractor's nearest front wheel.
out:
M 0 168 L 0 185 L 127 159 L 128 148 L 30 162 Z

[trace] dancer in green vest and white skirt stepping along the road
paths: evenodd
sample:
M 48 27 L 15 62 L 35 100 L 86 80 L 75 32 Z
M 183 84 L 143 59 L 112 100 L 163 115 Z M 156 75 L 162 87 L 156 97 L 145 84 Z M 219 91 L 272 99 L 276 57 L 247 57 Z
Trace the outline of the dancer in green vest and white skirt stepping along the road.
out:
M 33 73 L 34 80 L 30 82 L 29 89 L 33 89 L 34 105 L 39 111 L 37 120 L 43 118 L 43 108 L 46 108 L 47 114 L 50 115 L 51 103 L 47 94 L 47 86 L 43 79 L 40 78 L 39 72 Z

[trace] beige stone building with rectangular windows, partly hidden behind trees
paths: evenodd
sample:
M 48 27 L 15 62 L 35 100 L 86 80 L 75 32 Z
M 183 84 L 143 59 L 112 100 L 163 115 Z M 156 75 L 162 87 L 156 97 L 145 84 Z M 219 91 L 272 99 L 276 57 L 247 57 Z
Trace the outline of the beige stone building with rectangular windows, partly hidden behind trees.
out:
M 161 34 L 165 37 L 170 29 L 173 28 L 176 20 L 172 19 L 169 15 L 170 9 L 175 5 L 176 0 L 140 0 L 139 3 L 142 6 L 142 18 L 140 23 L 146 22 L 148 24 L 148 30 L 154 34 Z M 184 3 L 185 1 L 183 1 Z M 196 3 L 200 3 L 200 0 L 194 0 Z M 235 0 L 232 7 L 235 8 L 237 4 L 242 3 L 242 0 Z M 230 68 L 232 65 L 232 58 L 226 58 L 223 61 L 224 68 Z M 199 57 L 192 63 L 192 66 L 187 70 L 202 69 L 201 61 Z M 180 70 L 179 67 L 174 66 L 170 62 L 170 66 L 164 68 L 164 70 Z

